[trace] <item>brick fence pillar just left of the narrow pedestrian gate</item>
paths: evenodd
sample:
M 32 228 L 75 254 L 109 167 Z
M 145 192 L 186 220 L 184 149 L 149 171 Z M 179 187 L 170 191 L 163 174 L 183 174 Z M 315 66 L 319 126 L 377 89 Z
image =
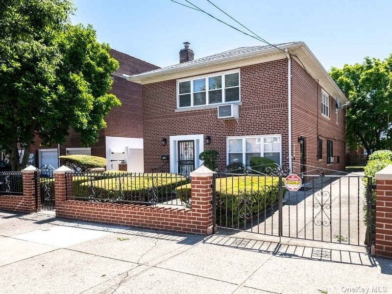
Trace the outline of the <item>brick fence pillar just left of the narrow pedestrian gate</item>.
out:
M 22 178 L 23 178 L 23 201 L 21 202 L 19 208 L 20 211 L 26 213 L 33 213 L 41 210 L 40 203 L 40 182 L 37 180 L 37 205 L 35 202 L 35 171 L 37 169 L 33 166 L 28 166 L 24 170 L 22 170 Z M 37 177 L 39 178 L 39 172 L 37 172 Z

